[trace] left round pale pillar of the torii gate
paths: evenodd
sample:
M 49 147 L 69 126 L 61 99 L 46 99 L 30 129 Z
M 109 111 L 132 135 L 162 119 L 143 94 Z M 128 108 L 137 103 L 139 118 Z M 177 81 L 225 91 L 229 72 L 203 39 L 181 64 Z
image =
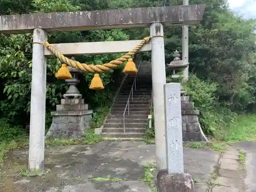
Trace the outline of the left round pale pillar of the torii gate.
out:
M 47 41 L 47 32 L 35 29 L 33 42 Z M 33 44 L 30 103 L 29 168 L 44 169 L 46 119 L 46 57 L 45 46 Z M 31 129 L 33 127 L 33 129 Z

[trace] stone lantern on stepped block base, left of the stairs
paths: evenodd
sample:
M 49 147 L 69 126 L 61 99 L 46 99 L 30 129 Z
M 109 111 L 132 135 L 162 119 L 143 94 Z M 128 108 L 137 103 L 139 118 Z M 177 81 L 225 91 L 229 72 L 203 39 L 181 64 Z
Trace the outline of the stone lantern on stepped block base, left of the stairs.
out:
M 79 70 L 68 67 L 73 78 L 67 79 L 69 89 L 63 95 L 61 103 L 56 106 L 56 112 L 52 113 L 52 124 L 45 139 L 50 138 L 79 138 L 92 121 L 92 110 L 84 103 L 82 95 L 76 85 L 79 83 L 77 74 Z

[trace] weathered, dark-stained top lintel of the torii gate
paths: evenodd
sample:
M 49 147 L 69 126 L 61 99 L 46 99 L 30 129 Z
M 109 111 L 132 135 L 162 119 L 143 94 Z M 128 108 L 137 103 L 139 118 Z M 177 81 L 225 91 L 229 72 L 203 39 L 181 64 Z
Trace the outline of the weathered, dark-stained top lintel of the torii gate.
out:
M 203 18 L 205 5 L 110 9 L 0 16 L 0 33 L 46 31 L 87 31 L 149 27 L 160 22 L 169 25 L 193 25 Z

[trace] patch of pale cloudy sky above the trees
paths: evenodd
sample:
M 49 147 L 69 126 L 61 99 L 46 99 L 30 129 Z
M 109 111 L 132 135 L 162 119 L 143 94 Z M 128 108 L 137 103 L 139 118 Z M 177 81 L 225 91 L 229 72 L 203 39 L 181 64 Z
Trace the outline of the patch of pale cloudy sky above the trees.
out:
M 256 0 L 228 0 L 229 7 L 245 18 L 256 18 Z

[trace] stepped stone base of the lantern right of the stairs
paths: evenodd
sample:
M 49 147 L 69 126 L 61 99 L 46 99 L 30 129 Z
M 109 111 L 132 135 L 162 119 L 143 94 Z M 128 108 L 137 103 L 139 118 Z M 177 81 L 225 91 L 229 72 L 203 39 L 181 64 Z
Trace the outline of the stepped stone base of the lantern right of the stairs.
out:
M 194 110 L 194 103 L 189 96 L 181 96 L 182 136 L 183 141 L 208 141 L 199 122 L 199 110 Z

